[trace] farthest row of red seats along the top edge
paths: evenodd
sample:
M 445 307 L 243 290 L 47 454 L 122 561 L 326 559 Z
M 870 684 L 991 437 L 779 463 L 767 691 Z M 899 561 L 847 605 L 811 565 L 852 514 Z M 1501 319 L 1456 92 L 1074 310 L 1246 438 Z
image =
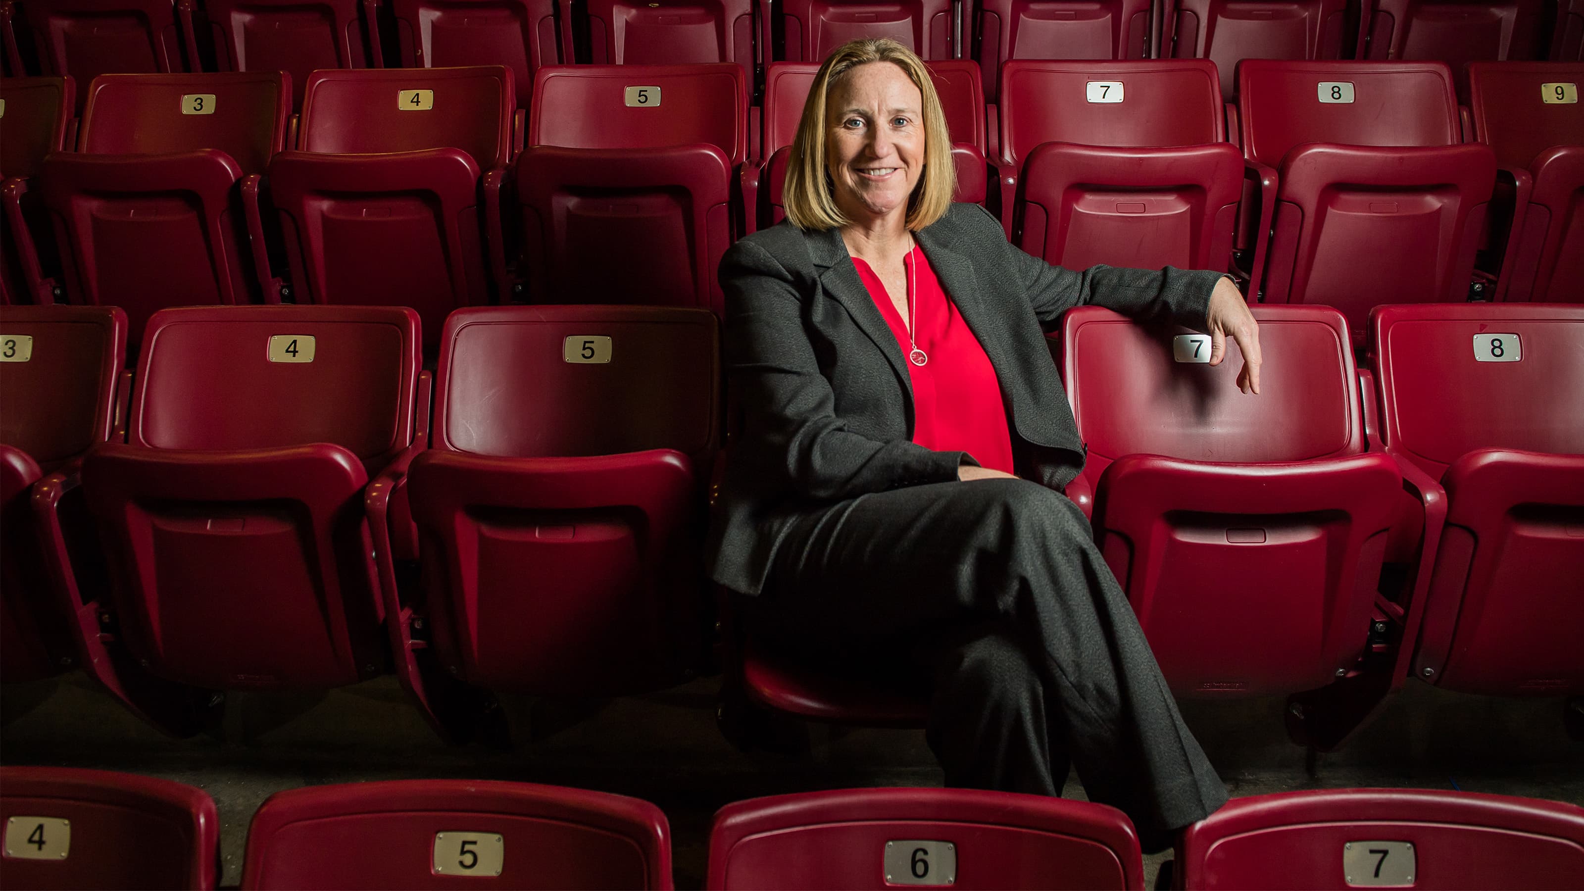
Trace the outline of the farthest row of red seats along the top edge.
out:
M 1584 60 L 1578 0 L 21 0 L 0 5 L 8 76 L 817 62 L 859 36 L 925 59 Z M 21 38 L 21 41 L 19 41 Z M 24 60 L 22 48 L 32 49 Z M 527 95 L 521 95 L 527 101 Z M 81 108 L 79 108 L 81 111 Z

